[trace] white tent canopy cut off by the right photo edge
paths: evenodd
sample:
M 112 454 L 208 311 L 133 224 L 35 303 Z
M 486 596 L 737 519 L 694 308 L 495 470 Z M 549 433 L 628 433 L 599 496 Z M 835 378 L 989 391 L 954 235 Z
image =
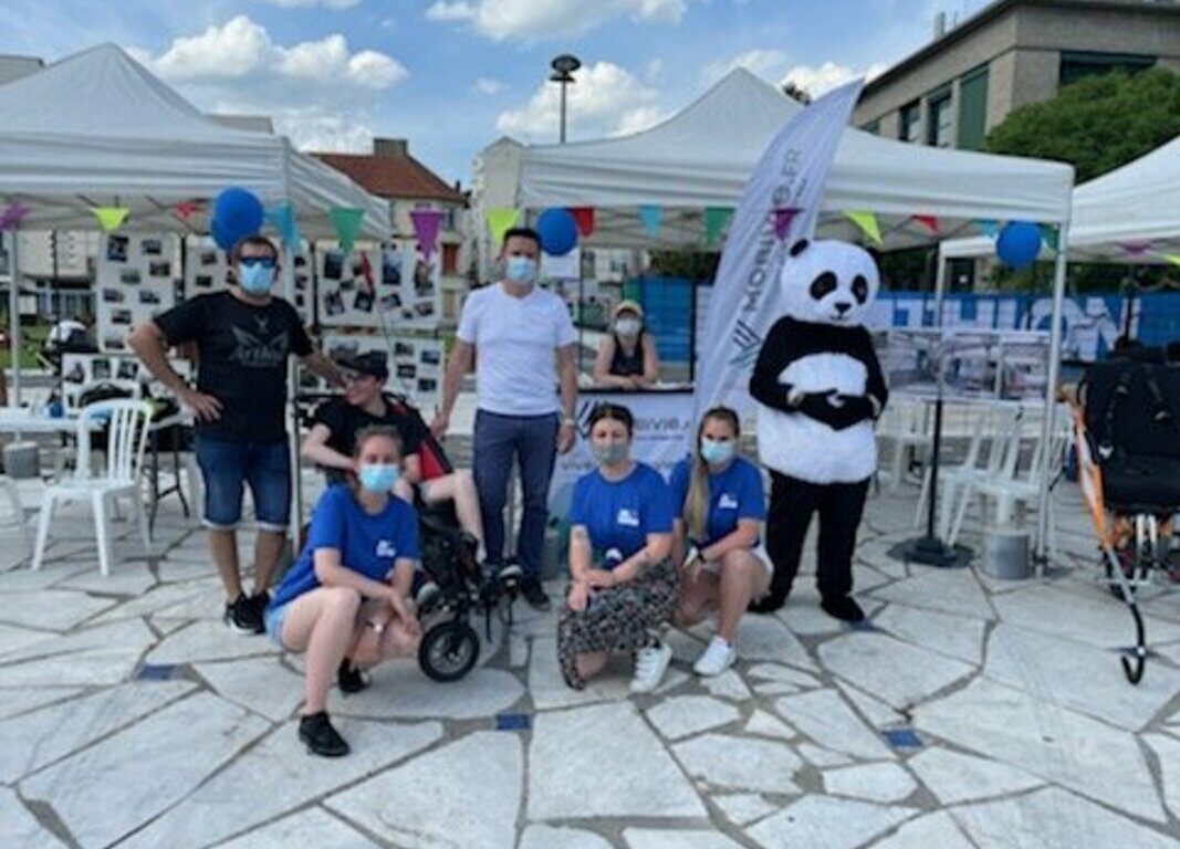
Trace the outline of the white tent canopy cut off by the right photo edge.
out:
M 1149 264 L 1180 254 L 1180 137 L 1077 186 L 1069 225 L 1074 262 Z M 945 257 L 995 251 L 985 237 L 942 244 Z

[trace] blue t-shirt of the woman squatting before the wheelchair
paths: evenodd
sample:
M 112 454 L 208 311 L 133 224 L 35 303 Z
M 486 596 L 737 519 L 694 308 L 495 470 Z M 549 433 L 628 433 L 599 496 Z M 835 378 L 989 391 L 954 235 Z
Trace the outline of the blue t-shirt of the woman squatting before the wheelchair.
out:
M 384 511 L 371 515 L 350 487 L 329 488 L 315 506 L 307 545 L 275 590 L 271 607 L 320 586 L 315 577 L 316 548 L 336 548 L 342 566 L 384 581 L 398 560 L 418 559 L 418 514 L 401 499 L 391 496 Z

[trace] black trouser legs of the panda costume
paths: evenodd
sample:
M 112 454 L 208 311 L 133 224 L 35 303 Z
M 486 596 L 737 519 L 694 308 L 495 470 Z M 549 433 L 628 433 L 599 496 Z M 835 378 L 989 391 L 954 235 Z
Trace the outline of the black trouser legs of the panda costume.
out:
M 852 592 L 852 555 L 867 494 L 867 480 L 821 485 L 771 472 L 766 553 L 774 564 L 769 593 L 774 601 L 781 604 L 791 592 L 799 573 L 804 539 L 815 512 L 819 512 L 819 593 L 835 601 Z

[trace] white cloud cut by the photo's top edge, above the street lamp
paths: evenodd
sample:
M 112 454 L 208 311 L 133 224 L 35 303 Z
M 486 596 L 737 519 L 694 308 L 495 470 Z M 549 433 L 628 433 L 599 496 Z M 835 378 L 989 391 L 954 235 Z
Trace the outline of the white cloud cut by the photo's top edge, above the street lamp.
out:
M 676 24 L 695 0 L 437 0 L 430 20 L 471 21 L 497 41 L 540 41 L 582 35 L 616 18 L 649 24 Z

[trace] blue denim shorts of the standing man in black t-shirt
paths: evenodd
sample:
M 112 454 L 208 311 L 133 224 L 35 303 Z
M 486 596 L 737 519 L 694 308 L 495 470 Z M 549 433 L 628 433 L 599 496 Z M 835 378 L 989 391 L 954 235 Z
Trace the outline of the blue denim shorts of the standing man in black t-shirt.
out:
M 197 436 L 197 463 L 205 481 L 205 527 L 231 531 L 242 519 L 243 485 L 264 531 L 286 531 L 290 513 L 290 449 L 287 440 L 231 442 Z

